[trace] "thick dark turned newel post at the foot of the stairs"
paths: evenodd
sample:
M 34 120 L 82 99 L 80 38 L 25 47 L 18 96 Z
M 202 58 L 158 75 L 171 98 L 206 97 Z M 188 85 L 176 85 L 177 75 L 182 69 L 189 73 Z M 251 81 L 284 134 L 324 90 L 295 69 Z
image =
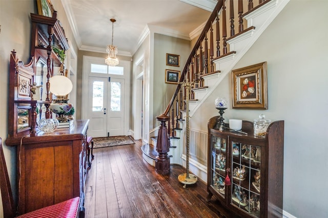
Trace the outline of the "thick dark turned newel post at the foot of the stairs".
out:
M 170 119 L 169 116 L 161 114 L 156 116 L 156 119 L 160 122 L 158 130 L 156 151 L 158 155 L 155 158 L 155 171 L 159 174 L 165 175 L 170 172 L 170 157 L 168 152 L 170 151 L 169 134 L 166 127 L 166 122 Z

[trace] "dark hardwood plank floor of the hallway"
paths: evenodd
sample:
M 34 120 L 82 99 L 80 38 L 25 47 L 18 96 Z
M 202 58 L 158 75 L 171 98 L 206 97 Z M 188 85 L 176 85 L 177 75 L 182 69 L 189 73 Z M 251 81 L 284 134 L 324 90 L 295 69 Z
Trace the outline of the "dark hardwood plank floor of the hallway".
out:
M 141 141 L 93 150 L 88 174 L 86 217 L 235 217 L 212 197 L 202 181 L 183 188 L 177 177 L 186 173 L 171 165 L 170 174 L 155 172 L 143 158 Z

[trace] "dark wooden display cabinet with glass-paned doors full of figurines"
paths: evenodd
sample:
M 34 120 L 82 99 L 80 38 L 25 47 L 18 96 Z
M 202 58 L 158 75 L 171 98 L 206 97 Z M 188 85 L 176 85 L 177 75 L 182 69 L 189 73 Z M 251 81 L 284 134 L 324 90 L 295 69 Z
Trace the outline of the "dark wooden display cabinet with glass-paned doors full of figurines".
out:
M 282 217 L 283 120 L 271 123 L 265 137 L 258 137 L 253 122 L 245 120 L 242 132 L 247 135 L 219 131 L 218 117 L 208 123 L 208 201 L 214 195 L 241 217 Z

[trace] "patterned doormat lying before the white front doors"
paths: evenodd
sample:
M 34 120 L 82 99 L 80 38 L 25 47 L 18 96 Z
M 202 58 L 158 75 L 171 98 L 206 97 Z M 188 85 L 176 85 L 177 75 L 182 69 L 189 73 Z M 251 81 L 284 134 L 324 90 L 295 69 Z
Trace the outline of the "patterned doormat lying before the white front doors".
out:
M 110 136 L 110 137 L 99 137 L 93 138 L 93 148 L 105 148 L 112 146 L 122 146 L 124 144 L 134 144 L 129 136 Z

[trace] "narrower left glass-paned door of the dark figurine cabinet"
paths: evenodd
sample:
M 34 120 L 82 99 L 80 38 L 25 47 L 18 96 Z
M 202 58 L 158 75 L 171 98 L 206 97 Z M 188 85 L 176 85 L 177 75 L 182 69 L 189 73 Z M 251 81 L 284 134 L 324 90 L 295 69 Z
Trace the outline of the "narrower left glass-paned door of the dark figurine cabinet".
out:
M 226 177 L 226 139 L 212 135 L 211 186 L 224 198 Z

